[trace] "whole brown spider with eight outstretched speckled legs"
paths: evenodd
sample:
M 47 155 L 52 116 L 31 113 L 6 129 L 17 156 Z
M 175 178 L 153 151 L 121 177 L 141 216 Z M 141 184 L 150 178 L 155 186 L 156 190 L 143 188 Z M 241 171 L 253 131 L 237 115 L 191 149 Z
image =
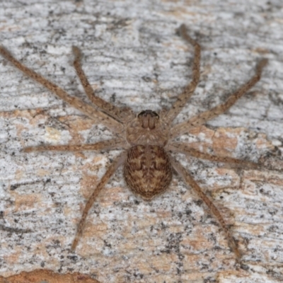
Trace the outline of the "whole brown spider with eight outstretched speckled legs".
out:
M 69 94 L 62 88 L 51 81 L 48 81 L 40 74 L 35 73 L 35 71 L 28 69 L 28 67 L 25 67 L 21 62 L 13 58 L 4 47 L 0 47 L 0 54 L 15 67 L 23 71 L 24 74 L 30 76 L 30 78 L 38 83 L 41 83 L 53 93 L 56 93 L 59 98 L 62 98 L 65 102 L 74 106 L 74 108 L 81 110 L 81 112 L 85 113 L 88 117 L 91 117 L 96 123 L 100 122 L 115 133 L 115 138 L 99 141 L 96 144 L 30 146 L 24 149 L 25 152 L 124 149 L 122 154 L 117 156 L 115 161 L 109 166 L 105 175 L 103 175 L 103 178 L 101 178 L 98 183 L 96 190 L 93 191 L 88 202 L 86 202 L 86 207 L 83 210 L 81 221 L 79 222 L 76 236 L 71 246 L 72 250 L 76 248 L 79 242 L 88 211 L 91 209 L 100 190 L 103 189 L 117 168 L 123 165 L 127 185 L 132 192 L 146 201 L 152 200 L 156 195 L 160 195 L 162 192 L 166 191 L 171 183 L 173 170 L 178 173 L 185 183 L 190 185 L 190 187 L 197 192 L 197 195 L 207 204 L 207 207 L 209 207 L 210 211 L 214 214 L 216 219 L 218 219 L 226 233 L 229 246 L 235 253 L 236 258 L 238 260 L 241 259 L 241 253 L 239 252 L 236 242 L 231 236 L 229 227 L 226 226 L 219 210 L 214 206 L 212 201 L 209 200 L 209 197 L 202 192 L 202 189 L 197 185 L 190 173 L 181 166 L 180 162 L 176 161 L 175 158 L 171 156 L 170 152 L 173 151 L 188 154 L 209 161 L 234 163 L 237 166 L 244 168 L 258 168 L 258 164 L 256 163 L 241 161 L 231 157 L 206 154 L 190 148 L 189 145 L 183 142 L 176 142 L 174 139 L 181 134 L 185 134 L 189 129 L 199 127 L 208 120 L 211 120 L 228 110 L 238 98 L 241 98 L 248 89 L 260 80 L 262 68 L 267 64 L 267 59 L 262 59 L 259 62 L 255 69 L 255 76 L 241 86 L 236 93 L 233 93 L 225 103 L 217 105 L 211 110 L 202 112 L 200 115 L 192 117 L 186 122 L 172 126 L 173 120 L 183 109 L 190 96 L 192 96 L 200 79 L 200 45 L 187 35 L 185 25 L 180 26 L 179 32 L 183 39 L 195 48 L 195 57 L 192 66 L 192 81 L 185 87 L 183 93 L 178 96 L 171 109 L 163 109 L 159 113 L 152 110 L 144 110 L 137 114 L 129 108 L 119 108 L 106 102 L 102 98 L 97 97 L 88 83 L 86 75 L 81 69 L 81 52 L 78 47 L 73 47 L 75 57 L 74 67 L 81 80 L 83 88 L 86 91 L 86 95 L 94 106 L 84 103 L 79 98 L 69 96 Z

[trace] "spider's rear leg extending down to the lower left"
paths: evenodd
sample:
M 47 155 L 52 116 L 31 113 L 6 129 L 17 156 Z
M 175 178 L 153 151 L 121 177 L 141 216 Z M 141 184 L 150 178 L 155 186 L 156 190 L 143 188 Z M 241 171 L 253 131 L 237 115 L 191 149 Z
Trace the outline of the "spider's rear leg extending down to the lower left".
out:
M 71 249 L 75 250 L 76 246 L 79 243 L 79 238 L 81 238 L 81 234 L 83 233 L 83 226 L 86 223 L 86 217 L 88 216 L 88 211 L 93 206 L 93 202 L 96 201 L 96 197 L 98 197 L 99 192 L 103 189 L 103 187 L 108 183 L 108 180 L 110 177 L 115 173 L 117 168 L 121 166 L 123 163 L 125 163 L 127 156 L 127 151 L 122 152 L 120 156 L 118 156 L 115 161 L 113 161 L 106 171 L 106 173 L 103 175 L 103 178 L 101 178 L 100 182 L 96 186 L 96 189 L 93 191 L 91 197 L 89 197 L 88 202 L 86 202 L 86 207 L 83 209 L 83 214 L 81 216 L 81 220 L 79 221 L 78 229 L 76 231 L 76 236 L 74 238 L 74 241 L 71 245 Z

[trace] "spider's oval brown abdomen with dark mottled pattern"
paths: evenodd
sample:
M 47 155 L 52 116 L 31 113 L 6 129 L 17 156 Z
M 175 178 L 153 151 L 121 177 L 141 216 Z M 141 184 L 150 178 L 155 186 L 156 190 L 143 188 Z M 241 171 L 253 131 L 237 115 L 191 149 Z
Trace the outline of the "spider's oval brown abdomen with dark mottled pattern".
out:
M 151 200 L 171 183 L 169 156 L 161 146 L 132 146 L 127 153 L 124 175 L 134 193 L 144 200 Z

